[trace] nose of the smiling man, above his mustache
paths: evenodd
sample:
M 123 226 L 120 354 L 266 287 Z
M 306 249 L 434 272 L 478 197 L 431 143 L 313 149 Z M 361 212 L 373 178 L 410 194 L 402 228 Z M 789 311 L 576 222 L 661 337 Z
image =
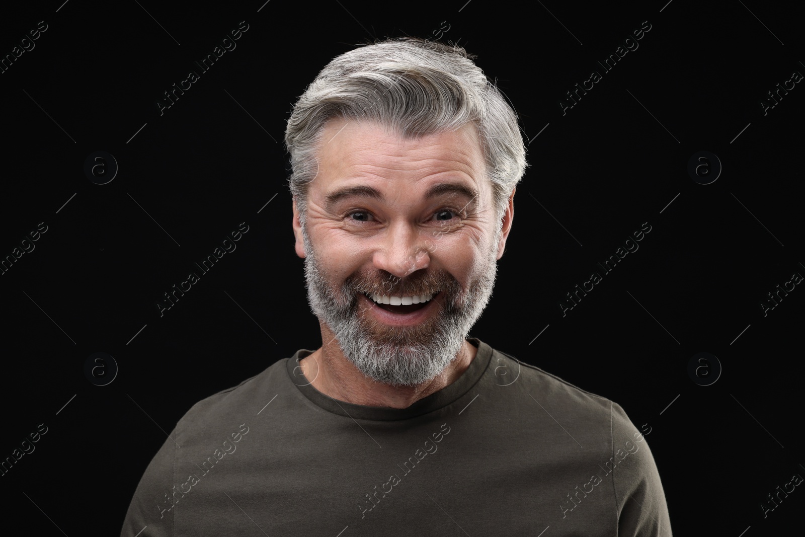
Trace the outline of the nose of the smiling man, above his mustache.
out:
M 390 227 L 378 239 L 378 248 L 373 256 L 374 266 L 398 278 L 427 268 L 431 262 L 427 237 L 427 233 L 420 233 L 410 224 L 400 223 Z

